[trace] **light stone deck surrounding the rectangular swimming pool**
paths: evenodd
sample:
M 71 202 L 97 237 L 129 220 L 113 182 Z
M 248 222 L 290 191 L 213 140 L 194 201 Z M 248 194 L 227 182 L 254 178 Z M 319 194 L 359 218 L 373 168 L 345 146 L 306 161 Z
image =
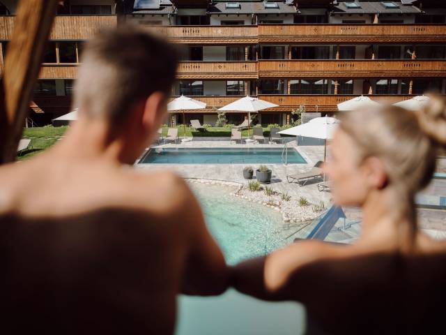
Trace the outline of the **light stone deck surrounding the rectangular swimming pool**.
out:
M 323 147 L 321 146 L 297 146 L 295 141 L 289 142 L 288 147 L 297 147 L 299 153 L 307 161 L 306 164 L 265 164 L 272 170 L 270 186 L 274 191 L 288 193 L 294 197 L 305 197 L 309 202 L 328 204 L 330 193 L 319 192 L 316 184 L 322 179 L 308 181 L 305 186 L 286 181 L 287 174 L 295 174 L 309 170 L 317 161 L 323 161 Z M 153 148 L 278 148 L 282 149 L 284 144 L 230 144 L 229 140 L 199 140 L 183 142 L 180 144 L 162 144 Z M 144 170 L 164 170 L 169 168 L 183 178 L 218 179 L 247 184 L 243 179 L 243 168 L 245 166 L 256 166 L 261 164 L 137 164 L 137 168 Z

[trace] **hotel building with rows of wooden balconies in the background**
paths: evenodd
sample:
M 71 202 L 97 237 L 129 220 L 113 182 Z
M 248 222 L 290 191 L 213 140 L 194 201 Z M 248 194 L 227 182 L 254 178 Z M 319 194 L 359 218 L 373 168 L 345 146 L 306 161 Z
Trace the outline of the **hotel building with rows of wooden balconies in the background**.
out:
M 0 1 L 0 66 L 16 6 Z M 139 24 L 178 44 L 172 96 L 208 106 L 187 122 L 214 124 L 217 108 L 249 94 L 279 105 L 259 113 L 261 124 L 289 124 L 293 110 L 329 114 L 359 95 L 394 103 L 445 94 L 445 20 L 442 0 L 60 1 L 31 119 L 42 126 L 70 111 L 82 45 L 101 27 Z M 238 123 L 244 114 L 226 117 Z

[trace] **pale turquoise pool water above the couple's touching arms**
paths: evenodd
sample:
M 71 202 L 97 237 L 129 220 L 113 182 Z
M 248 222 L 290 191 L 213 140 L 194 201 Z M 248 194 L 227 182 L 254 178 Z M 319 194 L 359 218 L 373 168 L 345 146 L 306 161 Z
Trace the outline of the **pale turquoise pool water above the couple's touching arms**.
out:
M 297 230 L 295 225 L 283 223 L 278 211 L 230 195 L 236 188 L 208 184 L 192 184 L 191 188 L 229 264 L 292 243 L 286 237 Z

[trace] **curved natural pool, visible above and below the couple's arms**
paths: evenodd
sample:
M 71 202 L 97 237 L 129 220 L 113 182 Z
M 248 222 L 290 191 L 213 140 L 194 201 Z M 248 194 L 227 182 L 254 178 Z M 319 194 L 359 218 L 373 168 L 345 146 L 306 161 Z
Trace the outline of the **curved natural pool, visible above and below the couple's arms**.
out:
M 298 228 L 282 223 L 277 211 L 229 195 L 234 191 L 231 187 L 190 186 L 229 264 L 292 242 L 292 237 L 286 237 Z M 181 296 L 178 300 L 176 335 L 298 335 L 304 330 L 305 309 L 295 302 L 259 301 L 232 289 L 218 297 Z

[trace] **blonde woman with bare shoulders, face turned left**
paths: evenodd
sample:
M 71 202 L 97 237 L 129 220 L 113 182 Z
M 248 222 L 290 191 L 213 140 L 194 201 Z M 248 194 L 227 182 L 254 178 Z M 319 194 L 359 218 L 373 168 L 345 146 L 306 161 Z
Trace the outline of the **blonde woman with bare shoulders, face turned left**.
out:
M 362 209 L 350 246 L 300 241 L 233 269 L 232 285 L 307 307 L 308 334 L 432 334 L 443 322 L 446 244 L 417 227 L 415 194 L 446 144 L 443 101 L 341 115 L 325 173 L 332 198 Z

